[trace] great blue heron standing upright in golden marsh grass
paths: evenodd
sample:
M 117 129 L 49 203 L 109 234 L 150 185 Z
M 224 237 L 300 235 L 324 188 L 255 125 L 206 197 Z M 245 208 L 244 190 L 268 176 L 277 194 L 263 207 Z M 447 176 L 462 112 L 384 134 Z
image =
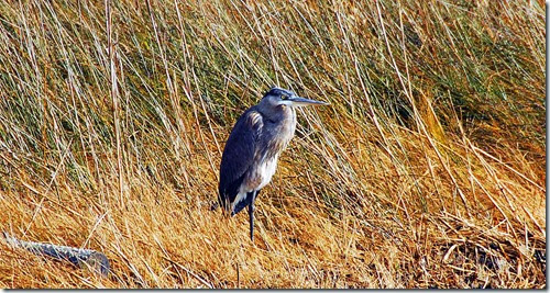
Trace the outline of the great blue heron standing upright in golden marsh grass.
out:
M 254 240 L 254 201 L 272 180 L 278 156 L 294 136 L 295 106 L 324 104 L 328 103 L 274 87 L 239 117 L 231 131 L 221 157 L 218 203 L 231 216 L 249 206 L 251 240 Z

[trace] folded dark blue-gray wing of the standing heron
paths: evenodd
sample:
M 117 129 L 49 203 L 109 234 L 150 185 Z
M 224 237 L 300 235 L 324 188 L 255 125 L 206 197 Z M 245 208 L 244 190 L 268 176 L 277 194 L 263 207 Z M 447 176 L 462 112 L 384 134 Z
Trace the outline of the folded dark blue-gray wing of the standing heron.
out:
M 252 166 L 263 125 L 262 115 L 253 106 L 239 117 L 229 135 L 221 156 L 218 187 L 218 201 L 226 211 L 230 210 L 244 176 Z

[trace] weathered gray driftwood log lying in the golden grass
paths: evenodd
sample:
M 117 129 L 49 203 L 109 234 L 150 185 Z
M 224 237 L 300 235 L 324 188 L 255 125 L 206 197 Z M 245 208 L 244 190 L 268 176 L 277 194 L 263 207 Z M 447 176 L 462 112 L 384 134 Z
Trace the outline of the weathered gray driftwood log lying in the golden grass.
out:
M 109 260 L 107 257 L 91 249 L 80 249 L 69 246 L 59 246 L 52 244 L 42 244 L 34 241 L 23 241 L 10 236 L 8 233 L 2 233 L 6 241 L 15 248 L 24 248 L 35 255 L 48 256 L 62 261 L 69 261 L 80 269 L 88 269 L 103 277 L 109 274 Z

